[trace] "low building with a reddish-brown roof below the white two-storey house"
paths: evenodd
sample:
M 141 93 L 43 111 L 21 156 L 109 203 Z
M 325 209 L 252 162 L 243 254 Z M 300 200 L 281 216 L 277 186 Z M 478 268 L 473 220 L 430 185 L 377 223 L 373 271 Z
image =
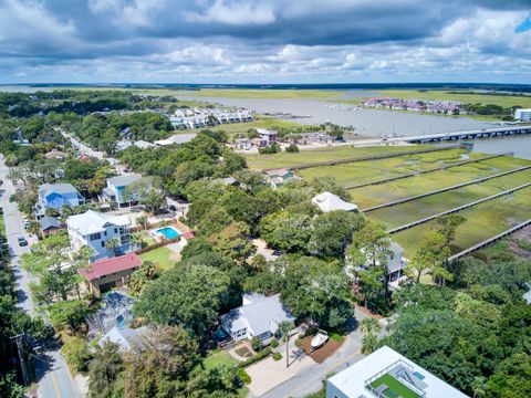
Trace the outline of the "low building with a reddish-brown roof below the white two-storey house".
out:
M 98 296 L 111 289 L 127 285 L 131 274 L 140 265 L 142 260 L 138 255 L 127 253 L 113 259 L 98 260 L 86 269 L 79 269 L 77 273 L 83 276 L 86 289 Z

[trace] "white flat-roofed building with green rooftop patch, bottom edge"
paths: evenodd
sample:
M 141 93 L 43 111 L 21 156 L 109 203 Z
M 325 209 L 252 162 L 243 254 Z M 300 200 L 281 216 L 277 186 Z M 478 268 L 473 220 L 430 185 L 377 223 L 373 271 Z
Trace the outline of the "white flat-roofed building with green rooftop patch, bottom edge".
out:
M 326 383 L 326 398 L 466 398 L 457 388 L 383 346 Z

